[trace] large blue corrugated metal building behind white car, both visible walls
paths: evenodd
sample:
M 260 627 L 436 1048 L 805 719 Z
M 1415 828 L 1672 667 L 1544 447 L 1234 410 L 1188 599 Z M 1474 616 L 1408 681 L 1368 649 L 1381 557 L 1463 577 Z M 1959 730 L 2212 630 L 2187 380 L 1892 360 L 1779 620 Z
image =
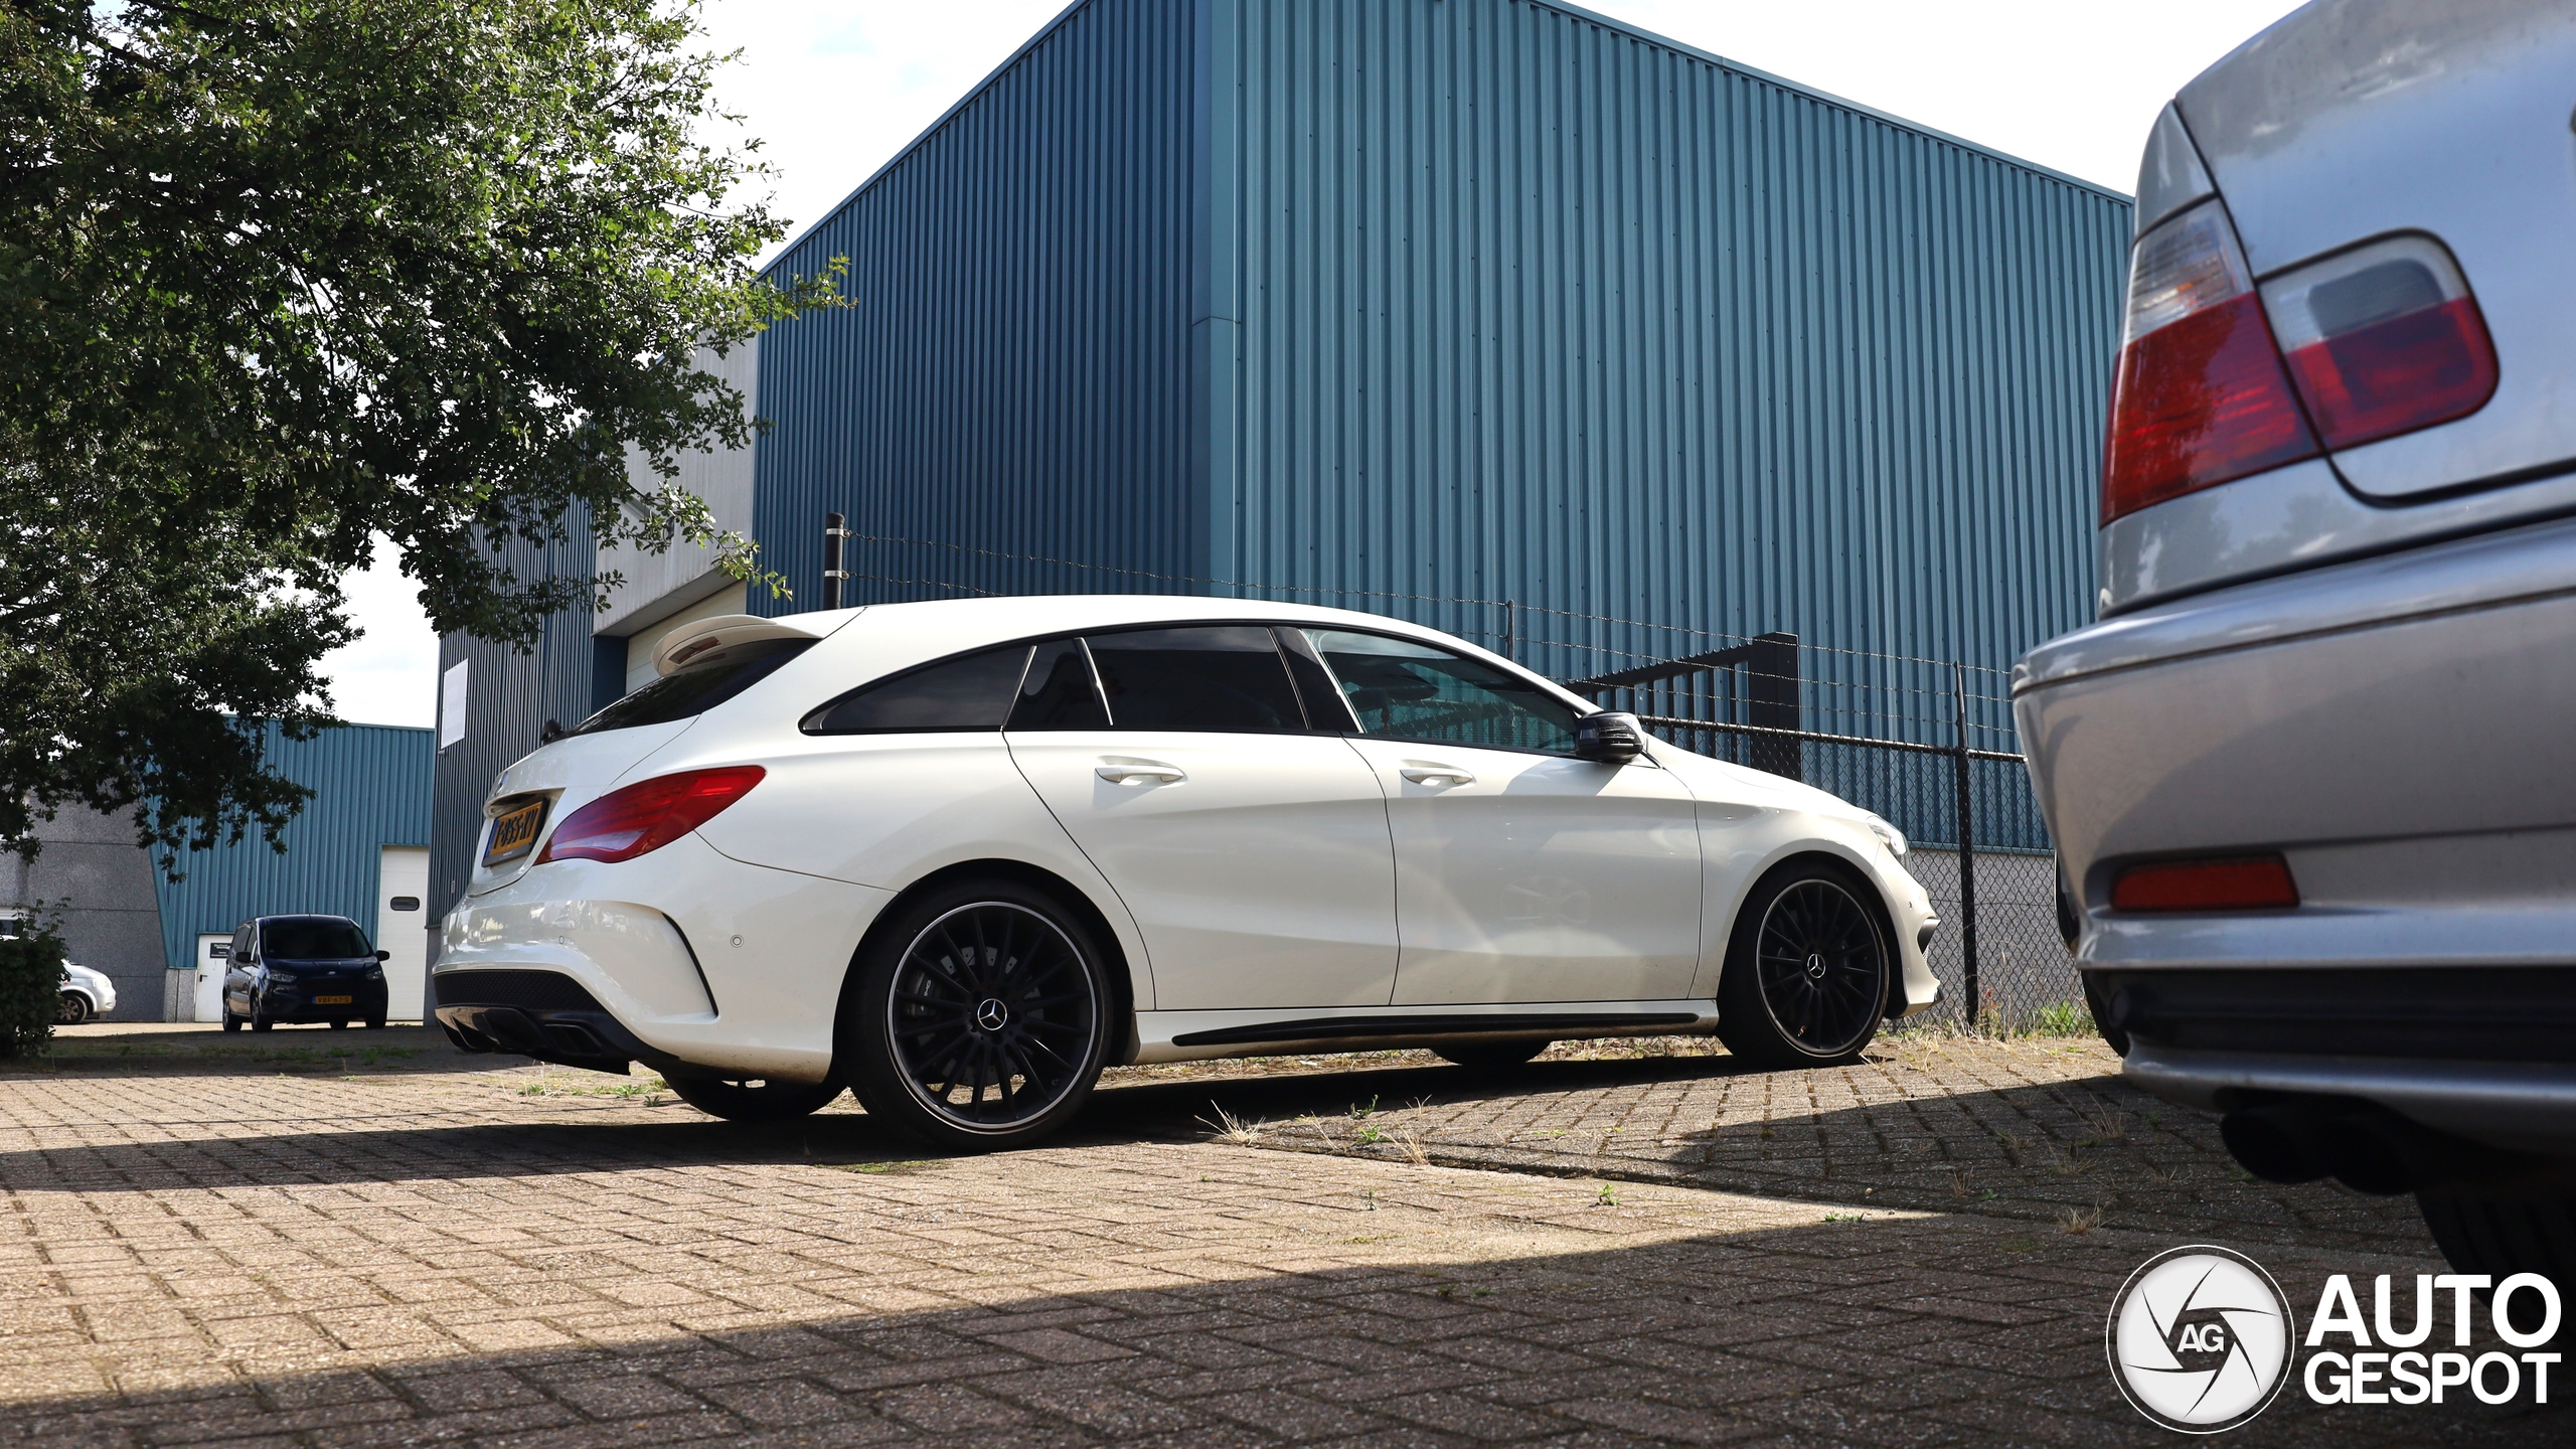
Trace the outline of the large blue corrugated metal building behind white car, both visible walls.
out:
M 755 608 L 814 603 L 842 511 L 922 541 L 855 544 L 853 601 L 1239 585 L 1494 642 L 1510 598 L 1561 678 L 1788 629 L 1811 724 L 1947 743 L 1965 660 L 2012 748 L 1999 670 L 2092 611 L 2128 227 L 1566 5 L 1092 0 L 781 258 L 848 255 L 853 307 L 762 340 L 796 603 Z M 1989 841 L 2043 843 L 1994 781 Z

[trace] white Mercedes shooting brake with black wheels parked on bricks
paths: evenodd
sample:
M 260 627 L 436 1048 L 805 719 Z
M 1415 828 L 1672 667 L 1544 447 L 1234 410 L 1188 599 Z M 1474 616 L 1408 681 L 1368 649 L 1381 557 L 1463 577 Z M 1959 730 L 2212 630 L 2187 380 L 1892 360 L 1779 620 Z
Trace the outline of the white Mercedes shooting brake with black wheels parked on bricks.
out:
M 708 619 L 654 665 L 492 784 L 433 972 L 469 1052 L 999 1147 L 1113 1062 L 1832 1065 L 1937 1000 L 1883 820 L 1414 624 L 979 598 Z

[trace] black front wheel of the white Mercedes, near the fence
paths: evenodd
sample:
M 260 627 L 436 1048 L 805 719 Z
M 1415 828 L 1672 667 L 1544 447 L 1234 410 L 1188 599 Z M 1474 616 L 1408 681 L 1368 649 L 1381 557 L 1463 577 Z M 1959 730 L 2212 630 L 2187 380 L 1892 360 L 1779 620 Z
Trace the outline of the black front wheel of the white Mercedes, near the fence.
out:
M 1718 977 L 1718 1036 L 1757 1067 L 1857 1062 L 1888 1016 L 1896 954 L 1878 892 L 1852 871 L 1790 861 L 1736 913 Z

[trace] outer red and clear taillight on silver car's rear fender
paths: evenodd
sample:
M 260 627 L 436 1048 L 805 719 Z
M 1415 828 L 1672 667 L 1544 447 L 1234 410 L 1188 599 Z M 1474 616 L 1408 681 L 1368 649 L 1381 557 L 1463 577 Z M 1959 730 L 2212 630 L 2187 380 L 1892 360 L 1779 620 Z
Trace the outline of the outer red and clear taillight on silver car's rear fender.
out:
M 2236 229 L 2202 201 L 2138 240 L 2102 521 L 2316 456 Z

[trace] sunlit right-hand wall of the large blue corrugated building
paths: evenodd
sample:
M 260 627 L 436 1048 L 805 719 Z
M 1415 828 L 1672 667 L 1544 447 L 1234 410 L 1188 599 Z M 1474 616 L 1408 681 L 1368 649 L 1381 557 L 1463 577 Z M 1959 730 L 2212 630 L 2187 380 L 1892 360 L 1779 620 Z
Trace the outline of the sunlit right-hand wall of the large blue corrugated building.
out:
M 1247 3 L 1236 46 L 1218 572 L 1674 627 L 1535 614 L 1558 676 L 2089 619 L 2128 199 L 1551 5 Z M 1947 740 L 1947 670 L 1808 660 L 1826 727 Z

